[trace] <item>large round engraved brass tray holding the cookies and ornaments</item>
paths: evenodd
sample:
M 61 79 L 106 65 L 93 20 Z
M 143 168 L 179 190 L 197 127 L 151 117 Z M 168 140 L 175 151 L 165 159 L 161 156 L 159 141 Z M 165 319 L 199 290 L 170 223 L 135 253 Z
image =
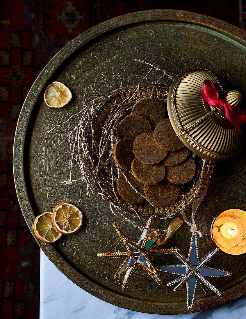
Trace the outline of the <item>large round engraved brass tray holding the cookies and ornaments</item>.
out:
M 136 64 L 133 58 L 158 63 L 169 73 L 206 67 L 225 75 L 245 94 L 245 37 L 246 33 L 235 26 L 191 12 L 153 10 L 130 13 L 79 35 L 53 57 L 36 79 L 24 102 L 16 129 L 13 150 L 16 191 L 33 235 L 35 217 L 44 211 L 52 211 L 60 202 L 72 202 L 83 211 L 85 225 L 77 234 L 62 236 L 53 245 L 37 242 L 52 263 L 87 292 L 116 306 L 141 312 L 188 312 L 186 291 L 181 289 L 173 293 L 171 287 L 166 286 L 175 277 L 171 274 L 161 274 L 163 284 L 157 286 L 136 268 L 122 291 L 122 278 L 114 279 L 122 259 L 99 258 L 96 254 L 123 248 L 112 227 L 114 221 L 133 239 L 139 237 L 140 231 L 115 220 L 99 197 L 87 197 L 85 185 L 69 188 L 60 184 L 69 174 L 69 145 L 59 145 L 66 126 L 48 133 L 49 130 L 76 112 L 86 89 L 86 98 L 91 100 L 98 93 L 105 94 L 120 85 L 137 83 L 139 80 L 125 69 L 145 74 L 147 68 L 144 64 Z M 154 71 L 151 76 L 155 79 Z M 52 109 L 44 103 L 44 90 L 53 81 L 64 83 L 73 94 L 64 108 Z M 243 151 L 229 162 L 216 164 L 208 193 L 196 213 L 197 224 L 203 232 L 210 233 L 211 222 L 219 211 L 233 206 L 245 209 L 245 155 Z M 76 166 L 73 174 L 78 176 Z M 165 248 L 177 246 L 187 254 L 190 237 L 189 227 L 182 225 Z M 199 238 L 198 247 L 201 257 L 214 249 L 210 236 Z M 155 257 L 155 264 L 177 263 L 173 256 L 158 258 Z M 208 266 L 231 271 L 233 276 L 211 279 L 222 296 L 212 292 L 205 296 L 198 290 L 192 311 L 216 307 L 246 293 L 245 262 L 245 256 L 230 257 L 222 253 L 212 258 Z

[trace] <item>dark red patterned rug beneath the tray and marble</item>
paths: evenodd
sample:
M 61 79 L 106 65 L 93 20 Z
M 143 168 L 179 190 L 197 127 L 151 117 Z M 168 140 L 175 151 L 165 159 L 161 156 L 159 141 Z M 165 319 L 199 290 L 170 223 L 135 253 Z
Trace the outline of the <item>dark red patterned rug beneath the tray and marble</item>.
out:
M 194 5 L 195 4 L 195 5 Z M 20 108 L 35 78 L 75 36 L 139 10 L 196 11 L 244 28 L 246 0 L 2 0 L 0 21 L 0 317 L 39 316 L 40 250 L 15 194 L 12 145 Z

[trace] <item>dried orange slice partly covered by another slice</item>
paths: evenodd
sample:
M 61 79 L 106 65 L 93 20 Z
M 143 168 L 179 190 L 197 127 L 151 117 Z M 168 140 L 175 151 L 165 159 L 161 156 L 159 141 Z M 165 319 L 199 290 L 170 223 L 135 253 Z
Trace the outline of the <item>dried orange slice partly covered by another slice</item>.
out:
M 52 224 L 52 213 L 48 211 L 36 217 L 33 230 L 37 238 L 46 243 L 52 243 L 61 237 Z

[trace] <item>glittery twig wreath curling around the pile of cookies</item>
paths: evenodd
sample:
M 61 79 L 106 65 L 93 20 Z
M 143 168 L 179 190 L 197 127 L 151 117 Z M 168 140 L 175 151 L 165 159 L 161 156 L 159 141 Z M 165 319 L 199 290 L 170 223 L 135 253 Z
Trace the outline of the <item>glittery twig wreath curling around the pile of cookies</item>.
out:
M 161 70 L 159 66 L 144 61 L 140 63 L 144 63 L 149 68 L 144 77 L 128 71 L 139 79 L 137 85 L 122 86 L 109 94 L 96 97 L 90 103 L 85 101 L 85 92 L 83 99 L 80 99 L 81 105 L 77 102 L 77 109 L 81 110 L 63 123 L 67 126 L 68 133 L 60 144 L 67 141 L 71 154 L 69 178 L 61 183 L 71 187 L 85 183 L 88 196 L 94 194 L 103 198 L 109 203 L 115 216 L 143 230 L 150 216 L 155 219 L 168 219 L 186 211 L 199 194 L 201 187 L 205 187 L 204 185 L 208 182 L 212 174 L 212 165 L 208 160 L 201 159 L 192 153 L 191 156 L 197 164 L 197 173 L 189 184 L 180 187 L 179 198 L 171 206 L 153 207 L 147 201 L 132 205 L 124 202 L 119 196 L 116 182 L 123 170 L 117 167 L 112 155 L 113 146 L 118 140 L 117 125 L 130 114 L 134 103 L 143 96 L 154 96 L 162 103 L 166 103 L 170 84 L 175 77 Z M 155 82 L 150 82 L 148 75 L 153 70 L 158 71 L 160 77 Z M 73 167 L 76 163 L 82 176 L 73 179 Z

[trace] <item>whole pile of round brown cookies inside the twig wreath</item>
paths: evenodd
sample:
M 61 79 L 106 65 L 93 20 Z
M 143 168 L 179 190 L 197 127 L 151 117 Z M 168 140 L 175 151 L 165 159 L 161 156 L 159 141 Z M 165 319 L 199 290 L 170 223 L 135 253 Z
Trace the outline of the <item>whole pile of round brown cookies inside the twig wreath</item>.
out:
M 194 178 L 196 167 L 170 120 L 165 119 L 163 105 L 154 97 L 137 101 L 131 115 L 119 123 L 117 133 L 113 155 L 118 167 L 126 171 L 117 181 L 123 200 L 130 204 L 144 201 L 135 188 L 154 206 L 174 203 L 179 185 Z

